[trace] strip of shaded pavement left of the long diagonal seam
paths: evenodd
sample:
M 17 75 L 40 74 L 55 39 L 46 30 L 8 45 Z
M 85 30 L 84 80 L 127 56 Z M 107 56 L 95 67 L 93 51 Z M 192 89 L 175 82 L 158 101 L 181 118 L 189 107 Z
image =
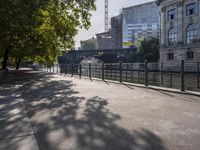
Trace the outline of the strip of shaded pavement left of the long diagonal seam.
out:
M 0 150 L 39 150 L 24 99 L 17 92 L 20 86 L 13 74 L 0 86 Z

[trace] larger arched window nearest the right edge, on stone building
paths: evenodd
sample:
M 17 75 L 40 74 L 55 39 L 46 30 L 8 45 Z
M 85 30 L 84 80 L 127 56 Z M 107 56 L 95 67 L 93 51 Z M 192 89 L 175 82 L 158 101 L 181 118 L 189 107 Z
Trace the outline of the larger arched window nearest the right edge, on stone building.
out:
M 191 24 L 187 27 L 187 43 L 193 43 L 193 40 L 197 37 L 197 29 L 195 28 L 194 24 Z

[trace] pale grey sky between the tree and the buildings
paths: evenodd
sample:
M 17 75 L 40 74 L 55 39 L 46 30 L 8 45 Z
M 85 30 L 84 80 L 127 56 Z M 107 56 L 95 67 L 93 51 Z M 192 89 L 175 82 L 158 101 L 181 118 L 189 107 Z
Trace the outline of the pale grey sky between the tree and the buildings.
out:
M 154 0 L 108 0 L 109 19 L 120 13 L 124 7 L 134 6 Z M 104 0 L 96 0 L 96 11 L 92 12 L 91 27 L 89 30 L 81 29 L 76 36 L 76 47 L 80 46 L 81 40 L 95 37 L 96 33 L 104 32 Z

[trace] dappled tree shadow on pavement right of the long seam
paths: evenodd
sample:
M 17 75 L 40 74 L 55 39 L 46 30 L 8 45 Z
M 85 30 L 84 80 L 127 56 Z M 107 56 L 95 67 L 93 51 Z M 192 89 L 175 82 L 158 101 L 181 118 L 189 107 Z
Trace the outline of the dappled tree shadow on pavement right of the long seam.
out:
M 108 99 L 86 99 L 71 81 L 51 74 L 22 74 L 7 87 L 21 84 L 11 91 L 16 100 L 23 99 L 41 150 L 165 150 L 162 139 L 151 131 L 119 126 L 123 118 L 108 109 Z M 7 94 L 0 96 L 9 99 Z

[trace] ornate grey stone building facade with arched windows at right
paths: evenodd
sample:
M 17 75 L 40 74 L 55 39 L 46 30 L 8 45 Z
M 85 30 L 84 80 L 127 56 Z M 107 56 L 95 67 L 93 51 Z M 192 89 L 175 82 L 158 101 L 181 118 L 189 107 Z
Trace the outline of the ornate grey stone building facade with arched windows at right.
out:
M 200 61 L 200 0 L 157 0 L 160 15 L 160 62 Z

